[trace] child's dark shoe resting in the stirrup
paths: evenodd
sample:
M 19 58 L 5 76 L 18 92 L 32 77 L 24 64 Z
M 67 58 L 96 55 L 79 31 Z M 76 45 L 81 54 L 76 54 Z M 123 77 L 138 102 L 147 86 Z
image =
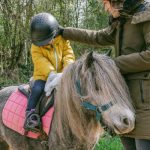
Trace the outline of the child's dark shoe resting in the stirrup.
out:
M 41 132 L 41 119 L 38 114 L 31 114 L 25 121 L 24 129 L 26 131 Z

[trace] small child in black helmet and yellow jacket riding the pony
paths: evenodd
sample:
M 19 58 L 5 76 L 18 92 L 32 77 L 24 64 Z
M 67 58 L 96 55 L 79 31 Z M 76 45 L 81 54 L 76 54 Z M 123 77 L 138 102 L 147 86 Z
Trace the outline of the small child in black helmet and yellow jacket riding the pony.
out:
M 59 24 L 49 13 L 39 13 L 31 21 L 31 55 L 34 64 L 34 85 L 29 97 L 25 130 L 38 130 L 40 122 L 35 114 L 35 107 L 44 91 L 45 83 L 50 78 L 60 78 L 64 67 L 74 62 L 75 57 L 70 42 L 57 36 Z M 58 74 L 57 74 L 58 73 Z M 34 122 L 31 121 L 34 116 Z

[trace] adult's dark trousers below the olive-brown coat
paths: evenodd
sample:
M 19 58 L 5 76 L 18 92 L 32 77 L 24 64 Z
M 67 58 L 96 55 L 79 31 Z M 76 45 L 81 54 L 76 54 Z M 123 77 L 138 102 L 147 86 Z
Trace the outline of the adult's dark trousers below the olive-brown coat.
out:
M 150 140 L 121 137 L 125 150 L 150 150 Z

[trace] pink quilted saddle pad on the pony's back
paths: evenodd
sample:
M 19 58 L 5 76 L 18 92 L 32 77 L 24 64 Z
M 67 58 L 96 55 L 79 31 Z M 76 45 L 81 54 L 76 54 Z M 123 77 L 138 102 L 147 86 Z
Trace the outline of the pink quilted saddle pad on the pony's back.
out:
M 23 125 L 25 121 L 26 107 L 27 98 L 17 90 L 10 95 L 2 112 L 2 120 L 4 125 L 20 133 L 21 135 L 25 135 Z M 53 113 L 54 107 L 51 107 L 42 117 L 43 130 L 47 135 L 50 131 Z M 39 133 L 30 131 L 26 136 L 36 139 L 39 137 L 39 135 Z

